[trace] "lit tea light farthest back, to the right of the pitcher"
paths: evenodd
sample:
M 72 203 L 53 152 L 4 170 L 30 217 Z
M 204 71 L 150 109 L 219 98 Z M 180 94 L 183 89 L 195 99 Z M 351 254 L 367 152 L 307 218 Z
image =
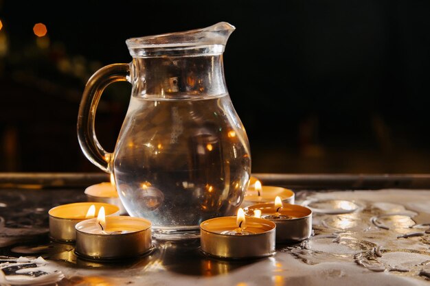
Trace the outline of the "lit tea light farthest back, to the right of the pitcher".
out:
M 290 189 L 262 186 L 261 182 L 257 180 L 253 187 L 248 187 L 243 197 L 242 206 L 245 207 L 251 204 L 273 202 L 277 196 L 286 204 L 294 204 L 294 192 Z

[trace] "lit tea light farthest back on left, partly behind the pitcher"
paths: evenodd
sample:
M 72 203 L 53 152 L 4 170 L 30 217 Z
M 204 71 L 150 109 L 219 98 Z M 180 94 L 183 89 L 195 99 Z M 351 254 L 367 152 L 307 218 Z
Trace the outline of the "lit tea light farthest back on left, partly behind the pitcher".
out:
M 127 215 L 126 208 L 122 204 L 115 187 L 115 179 L 111 174 L 111 182 L 101 182 L 93 184 L 84 191 L 89 202 L 105 202 L 106 204 L 115 204 L 120 208 L 120 215 Z

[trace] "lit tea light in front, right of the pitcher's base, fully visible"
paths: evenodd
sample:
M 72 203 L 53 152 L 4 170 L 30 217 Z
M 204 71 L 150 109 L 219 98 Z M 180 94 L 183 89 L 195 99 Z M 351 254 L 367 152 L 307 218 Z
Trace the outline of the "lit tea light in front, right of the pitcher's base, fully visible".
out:
M 201 250 L 228 259 L 267 257 L 275 252 L 275 224 L 267 219 L 216 217 L 200 224 Z

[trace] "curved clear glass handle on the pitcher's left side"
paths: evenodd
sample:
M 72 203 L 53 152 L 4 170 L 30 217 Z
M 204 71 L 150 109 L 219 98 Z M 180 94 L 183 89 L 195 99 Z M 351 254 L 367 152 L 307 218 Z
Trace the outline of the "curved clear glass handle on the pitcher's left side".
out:
M 85 156 L 97 167 L 112 173 L 113 154 L 106 152 L 95 136 L 94 121 L 104 88 L 113 82 L 128 81 L 130 64 L 109 64 L 96 71 L 84 88 L 78 113 L 78 140 Z

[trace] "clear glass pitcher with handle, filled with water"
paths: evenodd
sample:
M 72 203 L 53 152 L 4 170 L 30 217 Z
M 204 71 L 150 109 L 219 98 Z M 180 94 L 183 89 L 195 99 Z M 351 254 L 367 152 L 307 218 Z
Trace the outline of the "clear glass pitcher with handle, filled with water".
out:
M 85 156 L 113 173 L 131 216 L 152 222 L 159 239 L 199 237 L 206 219 L 235 215 L 251 173 L 245 128 L 225 85 L 223 51 L 234 27 L 221 22 L 187 32 L 126 40 L 130 64 L 89 79 L 78 115 Z M 95 136 L 100 96 L 113 82 L 132 93 L 113 153 Z

